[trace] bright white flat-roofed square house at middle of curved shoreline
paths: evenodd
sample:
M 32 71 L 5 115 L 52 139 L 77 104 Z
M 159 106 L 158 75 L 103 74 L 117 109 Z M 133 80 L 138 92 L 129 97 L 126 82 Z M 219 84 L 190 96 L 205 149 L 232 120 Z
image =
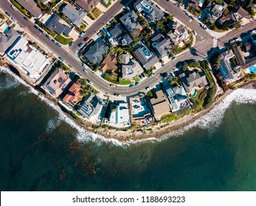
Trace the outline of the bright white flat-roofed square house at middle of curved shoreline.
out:
M 116 102 L 116 104 L 111 104 L 111 112 L 108 123 L 114 125 L 121 124 L 123 126 L 130 126 L 131 118 L 128 103 Z

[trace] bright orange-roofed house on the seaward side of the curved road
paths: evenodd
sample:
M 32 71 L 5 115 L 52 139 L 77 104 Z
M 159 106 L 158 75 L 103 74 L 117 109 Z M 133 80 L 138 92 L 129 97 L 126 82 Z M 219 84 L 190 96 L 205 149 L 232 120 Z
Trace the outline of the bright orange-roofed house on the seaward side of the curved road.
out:
M 83 98 L 82 95 L 80 95 L 81 85 L 79 82 L 74 82 L 72 86 L 69 88 L 68 92 L 63 98 L 63 101 L 67 104 L 70 104 L 72 107 L 74 107 L 78 102 L 80 102 L 80 99 Z

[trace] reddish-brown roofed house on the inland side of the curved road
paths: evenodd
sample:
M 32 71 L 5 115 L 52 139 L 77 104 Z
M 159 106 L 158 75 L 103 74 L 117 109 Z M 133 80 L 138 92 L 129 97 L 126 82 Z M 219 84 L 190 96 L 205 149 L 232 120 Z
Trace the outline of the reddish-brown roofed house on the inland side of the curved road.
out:
M 117 53 L 108 54 L 108 57 L 103 60 L 100 65 L 100 70 L 108 73 L 115 73 L 117 71 Z

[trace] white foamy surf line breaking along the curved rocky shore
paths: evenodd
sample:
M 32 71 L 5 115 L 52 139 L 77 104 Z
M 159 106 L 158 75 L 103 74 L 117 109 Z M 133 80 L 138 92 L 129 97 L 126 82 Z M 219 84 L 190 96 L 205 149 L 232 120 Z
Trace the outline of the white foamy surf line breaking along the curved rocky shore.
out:
M 36 95 L 38 92 L 32 88 L 30 85 L 28 85 L 26 82 L 24 82 L 23 79 L 18 77 L 17 75 L 13 74 L 13 72 L 9 71 L 7 68 L 0 67 L 0 71 L 10 74 L 13 77 L 15 77 L 16 81 L 22 85 L 25 85 L 27 88 L 29 88 L 31 93 L 35 93 Z M 224 113 L 226 109 L 229 108 L 229 106 L 232 104 L 232 102 L 236 102 L 238 104 L 242 103 L 250 103 L 255 104 L 256 103 L 256 90 L 254 89 L 237 89 L 233 91 L 231 94 L 226 96 L 222 102 L 217 104 L 215 107 L 210 110 L 209 113 L 205 114 L 204 116 L 199 117 L 196 121 L 194 121 L 192 124 L 189 124 L 187 127 L 184 127 L 183 129 L 179 129 L 173 132 L 168 133 L 167 135 L 163 135 L 161 138 L 146 138 L 142 140 L 130 140 L 130 141 L 117 141 L 114 138 L 104 138 L 101 135 L 94 134 L 92 132 L 86 131 L 86 129 L 83 129 L 83 127 L 80 127 L 75 121 L 73 121 L 71 118 L 66 116 L 66 113 L 63 113 L 63 111 L 58 107 L 57 105 L 50 102 L 48 99 L 46 99 L 44 96 L 38 96 L 41 101 L 46 102 L 50 107 L 58 111 L 59 113 L 59 119 L 62 121 L 65 121 L 67 124 L 69 124 L 72 128 L 77 129 L 77 140 L 80 142 L 88 142 L 93 141 L 100 145 L 103 142 L 106 143 L 112 143 L 112 145 L 115 146 L 131 146 L 133 144 L 138 143 L 145 143 L 145 142 L 152 142 L 156 143 L 159 141 L 163 141 L 170 137 L 176 137 L 179 135 L 184 134 L 184 132 L 187 132 L 189 129 L 193 127 L 199 127 L 201 129 L 207 129 L 209 132 L 212 132 L 214 129 L 218 128 L 218 126 L 221 124 L 222 119 L 224 118 Z M 111 145 L 109 145 L 111 146 Z

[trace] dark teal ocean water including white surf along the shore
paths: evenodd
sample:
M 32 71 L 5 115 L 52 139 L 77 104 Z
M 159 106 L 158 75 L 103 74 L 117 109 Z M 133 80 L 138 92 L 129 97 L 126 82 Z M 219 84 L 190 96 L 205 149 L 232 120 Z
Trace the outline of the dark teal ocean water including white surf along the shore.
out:
M 0 72 L 1 191 L 255 191 L 256 90 L 182 131 L 120 143 L 77 127 Z

